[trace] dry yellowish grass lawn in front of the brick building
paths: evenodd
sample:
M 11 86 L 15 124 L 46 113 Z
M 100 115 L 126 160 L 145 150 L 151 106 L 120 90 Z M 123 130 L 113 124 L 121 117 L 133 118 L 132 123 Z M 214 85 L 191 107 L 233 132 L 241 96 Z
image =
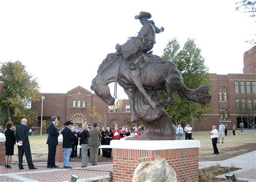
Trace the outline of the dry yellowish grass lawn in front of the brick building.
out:
M 217 144 L 219 155 L 212 155 L 213 148 L 210 137 L 210 131 L 193 132 L 192 137 L 201 143 L 199 148 L 199 161 L 208 160 L 225 160 L 231 157 L 241 155 L 243 153 L 256 150 L 256 130 L 240 130 L 235 131 L 233 136 L 232 131 L 228 130 L 227 136 L 224 137 L 224 143 Z M 48 155 L 48 145 L 46 144 L 47 135 L 29 136 L 32 159 L 34 162 L 46 161 Z M 13 162 L 18 161 L 18 150 L 15 146 Z

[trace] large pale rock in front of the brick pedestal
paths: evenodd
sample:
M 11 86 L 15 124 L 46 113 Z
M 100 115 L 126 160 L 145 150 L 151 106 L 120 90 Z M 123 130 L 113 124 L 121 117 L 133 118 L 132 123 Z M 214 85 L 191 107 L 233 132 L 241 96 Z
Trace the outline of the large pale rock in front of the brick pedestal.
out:
M 140 163 L 134 171 L 132 181 L 177 181 L 177 178 L 165 159 L 156 158 L 154 161 Z

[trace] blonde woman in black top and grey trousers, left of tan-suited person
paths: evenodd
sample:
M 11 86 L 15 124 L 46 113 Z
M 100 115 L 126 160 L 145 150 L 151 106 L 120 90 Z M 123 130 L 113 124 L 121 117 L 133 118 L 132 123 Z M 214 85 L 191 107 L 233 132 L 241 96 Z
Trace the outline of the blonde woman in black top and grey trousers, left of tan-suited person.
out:
M 88 125 L 83 124 L 82 126 L 82 132 L 80 133 L 80 144 L 82 146 L 82 167 L 87 167 L 88 163 L 88 155 L 87 155 L 87 149 L 88 149 L 88 140 L 89 140 L 89 131 L 88 131 Z

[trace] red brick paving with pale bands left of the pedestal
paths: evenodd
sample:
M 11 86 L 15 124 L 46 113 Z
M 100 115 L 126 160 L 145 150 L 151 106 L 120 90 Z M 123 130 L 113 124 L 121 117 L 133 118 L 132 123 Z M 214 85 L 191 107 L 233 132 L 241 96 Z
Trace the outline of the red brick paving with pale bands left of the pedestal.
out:
M 0 166 L 0 181 L 69 181 L 72 174 L 78 176 L 77 181 L 105 179 L 112 171 L 112 163 L 98 163 L 97 166 L 88 165 L 80 167 L 81 162 L 70 162 L 72 169 L 62 168 L 62 163 L 56 163 L 60 168 L 49 169 L 46 163 L 35 163 L 36 170 L 29 170 L 24 165 L 19 170 L 18 165 L 11 165 L 12 169 L 5 169 Z

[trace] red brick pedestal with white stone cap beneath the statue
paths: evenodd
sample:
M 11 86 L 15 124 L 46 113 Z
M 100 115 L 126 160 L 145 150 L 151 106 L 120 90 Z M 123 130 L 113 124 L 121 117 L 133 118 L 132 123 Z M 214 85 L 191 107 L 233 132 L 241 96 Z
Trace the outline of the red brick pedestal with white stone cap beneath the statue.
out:
M 114 141 L 113 181 L 132 181 L 141 162 L 165 158 L 176 172 L 177 181 L 198 181 L 199 141 Z

